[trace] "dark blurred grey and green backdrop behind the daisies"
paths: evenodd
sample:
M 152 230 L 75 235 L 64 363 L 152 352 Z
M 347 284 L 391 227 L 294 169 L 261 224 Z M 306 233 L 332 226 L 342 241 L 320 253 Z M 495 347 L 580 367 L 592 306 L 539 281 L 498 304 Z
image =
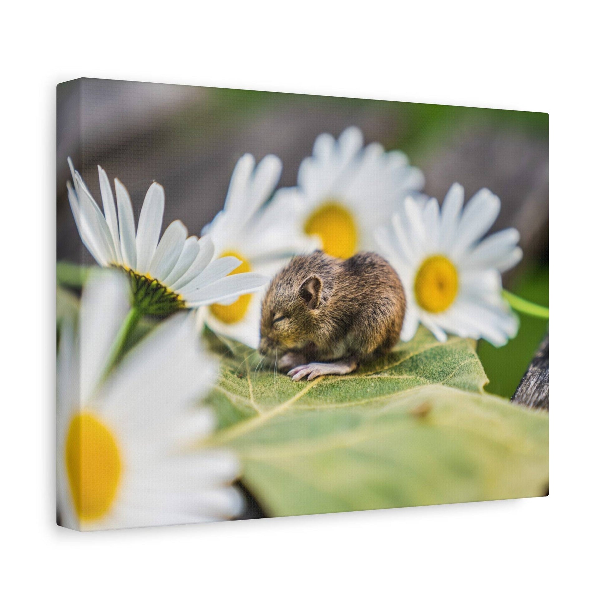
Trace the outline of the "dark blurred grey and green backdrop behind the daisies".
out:
M 316 136 L 336 136 L 353 124 L 365 143 L 402 149 L 439 201 L 454 181 L 466 199 L 482 187 L 495 192 L 502 211 L 493 231 L 514 226 L 524 251 L 504 286 L 548 305 L 548 115 L 537 112 L 90 78 L 59 84 L 57 259 L 93 263 L 67 203 L 68 156 L 98 202 L 97 164 L 110 180 L 120 178 L 136 218 L 158 181 L 166 191 L 164 227 L 181 219 L 198 234 L 222 208 L 242 154 L 276 154 L 283 162 L 279 185 L 295 185 Z M 547 326 L 523 317 L 505 347 L 480 342 L 489 392 L 512 396 Z

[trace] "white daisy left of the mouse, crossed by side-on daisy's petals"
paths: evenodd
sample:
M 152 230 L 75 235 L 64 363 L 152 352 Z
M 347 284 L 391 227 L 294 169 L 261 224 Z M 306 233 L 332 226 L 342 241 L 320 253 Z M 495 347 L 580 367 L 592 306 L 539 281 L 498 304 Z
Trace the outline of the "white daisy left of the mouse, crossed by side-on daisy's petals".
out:
M 233 274 L 258 272 L 273 276 L 294 253 L 312 250 L 314 239 L 302 234 L 292 209 L 271 202 L 262 206 L 276 189 L 282 164 L 268 155 L 257 166 L 251 154 L 236 163 L 225 206 L 203 229 L 215 243 L 215 261 L 239 259 Z M 226 297 L 198 312 L 198 322 L 252 348 L 259 345 L 263 293 Z

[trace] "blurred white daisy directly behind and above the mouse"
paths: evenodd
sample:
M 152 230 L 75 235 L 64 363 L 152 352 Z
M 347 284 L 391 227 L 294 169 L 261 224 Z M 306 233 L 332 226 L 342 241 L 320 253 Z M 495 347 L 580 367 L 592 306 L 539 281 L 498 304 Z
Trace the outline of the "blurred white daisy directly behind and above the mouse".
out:
M 375 229 L 388 222 L 405 195 L 424 186 L 424 175 L 402 152 L 362 145 L 356 127 L 337 140 L 319 135 L 299 168 L 297 187 L 277 192 L 277 201 L 297 215 L 300 231 L 335 257 L 376 249 Z

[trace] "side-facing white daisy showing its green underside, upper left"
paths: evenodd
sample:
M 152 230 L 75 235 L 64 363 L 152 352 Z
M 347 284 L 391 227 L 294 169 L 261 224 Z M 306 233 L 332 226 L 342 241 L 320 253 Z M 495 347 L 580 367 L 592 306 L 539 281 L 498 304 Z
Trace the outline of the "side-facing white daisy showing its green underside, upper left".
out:
M 99 265 L 117 266 L 129 274 L 134 305 L 144 313 L 198 308 L 251 293 L 267 282 L 265 276 L 246 270 L 228 276 L 241 265 L 240 259 L 212 261 L 211 239 L 188 238 L 180 221 L 172 222 L 158 242 L 164 214 L 164 189 L 158 183 L 148 189 L 135 234 L 131 198 L 122 183 L 114 180 L 116 206 L 106 172 L 98 167 L 103 214 L 72 161 L 68 162 L 74 183 L 67 184 L 68 197 L 84 245 Z

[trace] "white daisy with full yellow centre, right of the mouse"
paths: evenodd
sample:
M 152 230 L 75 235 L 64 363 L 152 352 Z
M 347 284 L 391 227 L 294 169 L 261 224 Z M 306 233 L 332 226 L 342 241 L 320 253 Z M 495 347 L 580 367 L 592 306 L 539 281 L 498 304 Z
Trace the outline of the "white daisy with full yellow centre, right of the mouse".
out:
M 520 235 L 508 228 L 481 240 L 500 213 L 500 199 L 488 189 L 463 205 L 464 188 L 458 183 L 441 209 L 436 198 L 419 203 L 407 197 L 390 225 L 376 232 L 407 294 L 404 341 L 415 335 L 419 322 L 440 341 L 449 332 L 500 346 L 517 334 L 517 316 L 503 299 L 501 272 L 523 256 Z

